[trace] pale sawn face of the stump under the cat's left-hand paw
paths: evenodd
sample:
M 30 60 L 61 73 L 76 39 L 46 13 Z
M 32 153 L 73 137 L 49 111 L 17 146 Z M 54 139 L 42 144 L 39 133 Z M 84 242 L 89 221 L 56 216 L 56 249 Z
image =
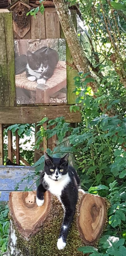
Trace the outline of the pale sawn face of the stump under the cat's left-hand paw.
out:
M 45 193 L 42 207 L 36 205 L 36 192 L 10 192 L 9 208 L 18 231 L 25 237 L 37 232 L 48 217 L 51 207 L 50 194 Z

